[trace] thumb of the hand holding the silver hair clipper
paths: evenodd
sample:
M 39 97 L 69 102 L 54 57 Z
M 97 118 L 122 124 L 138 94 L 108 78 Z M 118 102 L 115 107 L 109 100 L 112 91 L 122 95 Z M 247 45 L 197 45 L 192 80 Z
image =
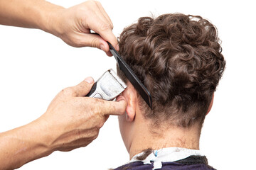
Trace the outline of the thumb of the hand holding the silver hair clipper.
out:
M 75 91 L 75 97 L 86 96 L 90 89 L 92 89 L 92 85 L 94 84 L 94 80 L 92 77 L 87 77 L 84 81 L 80 82 L 77 86 L 71 87 L 73 91 Z

